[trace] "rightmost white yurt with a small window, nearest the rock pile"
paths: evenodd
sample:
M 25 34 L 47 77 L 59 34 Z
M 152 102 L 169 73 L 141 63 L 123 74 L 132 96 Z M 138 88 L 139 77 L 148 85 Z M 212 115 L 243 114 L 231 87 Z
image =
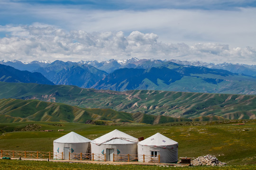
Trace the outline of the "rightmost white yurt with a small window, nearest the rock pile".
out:
M 173 163 L 178 161 L 178 143 L 174 140 L 156 133 L 138 143 L 138 155 L 151 155 L 151 159 L 144 161 L 157 160 L 160 155 L 161 163 Z M 143 161 L 143 157 L 139 157 Z

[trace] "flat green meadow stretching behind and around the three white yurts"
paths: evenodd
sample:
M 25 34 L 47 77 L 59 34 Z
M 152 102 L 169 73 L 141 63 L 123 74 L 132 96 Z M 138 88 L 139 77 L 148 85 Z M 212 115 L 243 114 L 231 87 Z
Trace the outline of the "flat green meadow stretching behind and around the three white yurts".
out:
M 26 127 L 31 122 L 0 123 L 0 129 L 5 131 L 0 136 L 0 149 L 52 152 L 53 141 L 70 131 L 89 139 L 95 139 L 114 129 L 119 129 L 131 136 L 144 136 L 145 138 L 159 132 L 179 143 L 179 157 L 196 158 L 211 154 L 217 156 L 219 161 L 228 163 L 228 165 L 256 164 L 256 120 L 247 120 L 245 125 L 232 125 L 241 123 L 241 121 L 228 124 L 225 124 L 225 121 L 202 122 L 205 123 L 203 126 L 187 125 L 186 122 L 181 125 L 168 123 L 150 126 L 136 126 L 135 124 L 99 126 L 65 122 L 33 123 L 41 126 L 37 130 L 50 129 L 53 131 L 14 131 Z M 58 129 L 64 129 L 64 131 L 58 132 Z

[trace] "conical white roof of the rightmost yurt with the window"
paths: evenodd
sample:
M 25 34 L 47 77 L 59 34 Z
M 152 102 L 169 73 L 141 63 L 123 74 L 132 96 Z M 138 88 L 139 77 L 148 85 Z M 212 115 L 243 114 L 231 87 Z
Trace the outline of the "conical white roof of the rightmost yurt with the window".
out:
M 140 141 L 138 144 L 147 145 L 147 146 L 166 146 L 166 145 L 178 144 L 178 142 L 160 133 L 156 133 L 155 135 L 150 136 L 144 139 L 143 141 Z

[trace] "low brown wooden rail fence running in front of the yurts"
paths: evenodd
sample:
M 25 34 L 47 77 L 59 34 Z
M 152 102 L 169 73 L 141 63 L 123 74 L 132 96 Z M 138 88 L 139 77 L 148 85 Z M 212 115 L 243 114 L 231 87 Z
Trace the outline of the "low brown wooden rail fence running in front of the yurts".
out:
M 64 155 L 63 153 L 54 153 L 54 152 L 1 150 L 0 157 L 63 160 Z M 105 154 L 69 153 L 69 160 L 106 161 L 106 153 Z M 137 154 L 113 154 L 113 161 L 160 162 L 160 155 L 154 156 L 154 155 L 137 155 Z

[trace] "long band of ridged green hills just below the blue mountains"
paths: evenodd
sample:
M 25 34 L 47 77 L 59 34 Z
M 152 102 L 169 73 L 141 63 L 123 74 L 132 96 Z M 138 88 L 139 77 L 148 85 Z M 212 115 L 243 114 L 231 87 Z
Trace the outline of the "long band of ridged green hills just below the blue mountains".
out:
M 82 108 L 100 108 L 193 120 L 256 119 L 256 95 L 155 90 L 83 89 L 70 85 L 0 82 L 0 98 L 37 99 Z

